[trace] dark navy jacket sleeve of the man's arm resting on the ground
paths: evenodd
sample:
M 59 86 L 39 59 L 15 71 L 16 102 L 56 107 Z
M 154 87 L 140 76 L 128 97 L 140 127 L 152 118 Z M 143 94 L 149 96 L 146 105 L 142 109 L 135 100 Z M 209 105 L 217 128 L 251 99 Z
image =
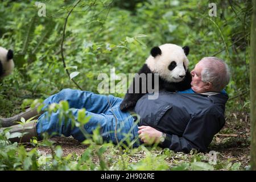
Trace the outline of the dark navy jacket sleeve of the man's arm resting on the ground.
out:
M 201 152 L 206 152 L 212 139 L 225 124 L 222 114 L 207 113 L 195 115 L 188 122 L 187 127 L 181 137 L 177 135 L 166 135 L 166 139 L 160 145 L 163 148 L 170 148 L 176 152 L 188 153 L 195 148 Z

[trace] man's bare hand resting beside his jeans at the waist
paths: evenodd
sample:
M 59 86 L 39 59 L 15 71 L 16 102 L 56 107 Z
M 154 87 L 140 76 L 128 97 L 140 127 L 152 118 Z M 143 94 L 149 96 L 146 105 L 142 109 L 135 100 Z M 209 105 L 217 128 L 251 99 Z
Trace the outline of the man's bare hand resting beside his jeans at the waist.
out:
M 139 126 L 139 139 L 146 144 L 159 143 L 162 132 L 150 126 Z

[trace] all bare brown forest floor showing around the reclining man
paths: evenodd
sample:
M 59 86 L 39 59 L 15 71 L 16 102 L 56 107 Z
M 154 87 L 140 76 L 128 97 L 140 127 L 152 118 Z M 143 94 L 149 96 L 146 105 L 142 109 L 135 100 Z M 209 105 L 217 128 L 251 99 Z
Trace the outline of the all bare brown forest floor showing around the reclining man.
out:
M 217 160 L 241 163 L 241 168 L 245 168 L 250 163 L 250 122 L 248 113 L 229 113 L 226 117 L 226 124 L 220 133 L 216 134 L 213 138 L 212 143 L 209 146 L 210 151 L 217 152 Z M 55 145 L 59 145 L 63 149 L 63 155 L 76 154 L 80 156 L 84 153 L 87 146 L 81 144 L 72 137 L 55 137 L 51 138 Z M 31 150 L 33 147 L 28 144 L 26 146 L 27 150 Z M 39 151 L 43 155 L 51 154 L 51 150 L 48 147 L 39 146 Z M 138 154 L 135 158 L 131 158 L 131 162 L 138 162 L 145 155 L 144 151 Z M 160 154 L 161 151 L 153 150 L 156 154 Z M 202 154 L 207 155 L 208 154 Z M 182 152 L 177 152 L 172 158 L 166 159 L 168 163 L 179 164 L 185 161 L 190 161 L 193 158 L 193 154 L 183 154 Z M 178 162 L 177 162 L 178 160 Z M 98 159 L 94 159 L 98 162 Z

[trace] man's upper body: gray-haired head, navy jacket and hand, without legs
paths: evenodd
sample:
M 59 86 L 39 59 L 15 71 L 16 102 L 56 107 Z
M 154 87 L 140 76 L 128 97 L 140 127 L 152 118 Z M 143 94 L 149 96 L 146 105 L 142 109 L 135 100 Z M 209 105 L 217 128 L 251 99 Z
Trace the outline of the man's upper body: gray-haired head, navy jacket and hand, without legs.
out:
M 196 64 L 191 75 L 190 90 L 177 94 L 164 93 L 156 101 L 143 97 L 138 102 L 135 110 L 142 117 L 141 125 L 152 126 L 139 127 L 139 138 L 143 142 L 148 143 L 148 138 L 157 140 L 164 136 L 162 147 L 183 152 L 189 152 L 192 148 L 207 151 L 213 136 L 225 124 L 228 96 L 222 89 L 229 83 L 229 68 L 216 57 L 204 57 Z M 163 108 L 159 111 L 155 105 Z M 160 121 L 158 114 L 147 110 L 161 114 Z

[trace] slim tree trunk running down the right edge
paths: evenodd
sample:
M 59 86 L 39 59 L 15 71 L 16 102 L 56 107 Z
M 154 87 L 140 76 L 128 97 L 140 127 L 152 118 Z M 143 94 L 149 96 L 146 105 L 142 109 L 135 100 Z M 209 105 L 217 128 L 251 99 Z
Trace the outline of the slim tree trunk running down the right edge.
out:
M 251 61 L 250 61 L 250 100 L 251 100 L 251 170 L 256 170 L 256 0 L 253 0 L 251 19 Z

